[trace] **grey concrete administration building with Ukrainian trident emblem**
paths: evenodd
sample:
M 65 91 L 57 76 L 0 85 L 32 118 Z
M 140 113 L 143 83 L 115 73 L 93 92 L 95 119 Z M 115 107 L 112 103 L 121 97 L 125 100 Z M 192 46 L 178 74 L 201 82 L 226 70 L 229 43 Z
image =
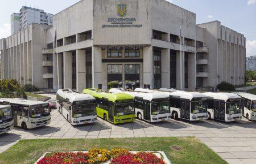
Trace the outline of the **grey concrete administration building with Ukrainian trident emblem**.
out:
M 196 14 L 164 0 L 82 0 L 53 27 L 30 24 L 2 39 L 0 50 L 3 78 L 55 90 L 245 81 L 243 34 L 219 21 L 197 25 Z

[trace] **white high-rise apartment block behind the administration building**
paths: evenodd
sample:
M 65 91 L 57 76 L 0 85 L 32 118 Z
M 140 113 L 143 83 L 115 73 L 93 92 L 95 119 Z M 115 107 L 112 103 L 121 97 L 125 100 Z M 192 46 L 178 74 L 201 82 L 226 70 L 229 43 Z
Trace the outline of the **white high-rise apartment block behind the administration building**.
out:
M 53 25 L 52 19 L 53 14 L 48 14 L 44 10 L 22 6 L 19 14 L 14 13 L 11 15 L 11 34 L 27 28 L 31 23 Z

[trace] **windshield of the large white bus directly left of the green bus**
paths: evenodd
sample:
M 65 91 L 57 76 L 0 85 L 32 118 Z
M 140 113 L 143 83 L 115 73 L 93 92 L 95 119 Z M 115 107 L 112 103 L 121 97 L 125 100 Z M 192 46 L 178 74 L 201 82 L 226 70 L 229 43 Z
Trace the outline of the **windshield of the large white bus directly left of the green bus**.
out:
M 96 115 L 95 103 L 73 105 L 73 118 L 81 116 Z

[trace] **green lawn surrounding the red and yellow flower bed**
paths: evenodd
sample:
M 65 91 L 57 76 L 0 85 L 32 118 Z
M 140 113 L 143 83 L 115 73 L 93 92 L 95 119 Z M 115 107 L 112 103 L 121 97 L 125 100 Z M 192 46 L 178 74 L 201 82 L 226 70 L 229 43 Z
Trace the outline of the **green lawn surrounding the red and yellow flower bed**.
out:
M 180 146 L 172 150 L 171 146 Z M 125 148 L 161 150 L 171 163 L 226 163 L 195 137 L 147 137 L 127 139 L 36 139 L 20 140 L 0 154 L 0 163 L 34 163 L 45 152 Z

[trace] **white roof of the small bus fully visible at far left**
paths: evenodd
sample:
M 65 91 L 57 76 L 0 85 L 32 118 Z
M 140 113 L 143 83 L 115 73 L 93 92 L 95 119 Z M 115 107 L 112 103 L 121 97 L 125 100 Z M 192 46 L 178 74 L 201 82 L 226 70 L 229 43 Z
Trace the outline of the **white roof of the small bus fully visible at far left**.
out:
M 32 101 L 32 100 L 26 100 L 23 98 L 0 98 L 0 102 L 10 102 L 20 105 L 48 105 L 48 102 L 44 101 Z

